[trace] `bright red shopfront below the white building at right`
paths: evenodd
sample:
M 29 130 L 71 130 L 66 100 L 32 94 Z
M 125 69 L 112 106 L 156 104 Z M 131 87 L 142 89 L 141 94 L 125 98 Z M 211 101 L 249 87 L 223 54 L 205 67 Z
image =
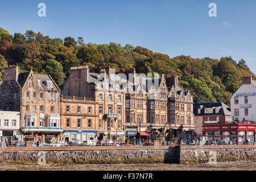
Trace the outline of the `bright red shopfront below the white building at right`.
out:
M 251 123 L 216 123 L 204 124 L 203 136 L 205 140 L 236 140 L 238 144 L 255 141 L 255 124 Z

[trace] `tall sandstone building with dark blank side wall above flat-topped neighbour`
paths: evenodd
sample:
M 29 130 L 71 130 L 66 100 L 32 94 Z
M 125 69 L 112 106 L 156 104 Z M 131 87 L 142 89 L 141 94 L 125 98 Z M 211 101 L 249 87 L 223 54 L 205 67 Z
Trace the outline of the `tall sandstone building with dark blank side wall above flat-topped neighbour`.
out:
M 123 140 L 125 119 L 125 92 L 117 81 L 110 78 L 109 66 L 71 67 L 69 78 L 64 82 L 61 94 L 65 96 L 86 97 L 94 100 L 98 117 L 94 120 L 97 139 L 110 139 L 117 136 Z

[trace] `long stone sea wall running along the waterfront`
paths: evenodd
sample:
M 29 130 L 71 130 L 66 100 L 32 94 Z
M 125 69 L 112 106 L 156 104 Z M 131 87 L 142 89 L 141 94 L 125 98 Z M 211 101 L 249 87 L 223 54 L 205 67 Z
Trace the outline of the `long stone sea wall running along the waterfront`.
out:
M 0 162 L 38 164 L 256 162 L 256 146 L 0 147 Z M 41 160 L 42 159 L 42 160 Z

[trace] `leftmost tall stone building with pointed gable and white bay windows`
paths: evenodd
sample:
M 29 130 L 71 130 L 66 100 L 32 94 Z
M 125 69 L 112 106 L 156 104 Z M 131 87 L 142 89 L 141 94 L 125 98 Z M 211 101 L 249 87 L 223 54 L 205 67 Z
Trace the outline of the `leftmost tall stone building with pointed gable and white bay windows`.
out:
M 22 140 L 60 140 L 60 89 L 51 76 L 3 70 L 1 109 L 20 112 Z

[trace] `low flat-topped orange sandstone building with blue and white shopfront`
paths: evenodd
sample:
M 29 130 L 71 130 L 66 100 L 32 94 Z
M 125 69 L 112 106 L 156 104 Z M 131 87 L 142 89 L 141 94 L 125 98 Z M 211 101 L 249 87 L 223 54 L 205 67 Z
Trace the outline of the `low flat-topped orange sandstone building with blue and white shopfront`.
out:
M 96 140 L 98 105 L 94 98 L 61 96 L 61 139 L 67 142 Z

